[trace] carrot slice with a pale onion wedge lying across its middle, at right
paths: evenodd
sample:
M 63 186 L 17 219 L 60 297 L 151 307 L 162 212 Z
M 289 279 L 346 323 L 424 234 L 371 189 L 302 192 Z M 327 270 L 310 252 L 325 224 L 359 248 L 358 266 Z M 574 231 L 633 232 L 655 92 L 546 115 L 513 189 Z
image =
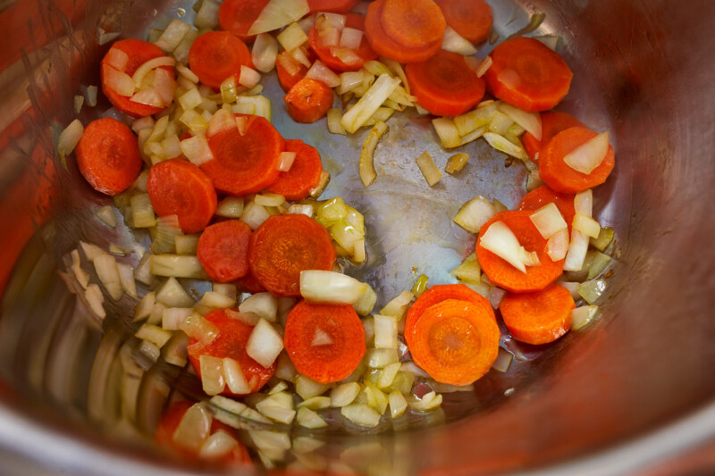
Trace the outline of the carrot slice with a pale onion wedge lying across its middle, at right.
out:
M 526 266 L 526 272 L 517 270 L 514 266 L 494 255 L 491 251 L 484 249 L 480 245 L 480 240 L 476 242 L 476 257 L 482 270 L 492 284 L 515 293 L 526 293 L 540 291 L 549 286 L 561 275 L 564 267 L 564 260 L 551 261 L 546 253 L 546 240 L 543 239 L 539 230 L 536 230 L 534 223 L 529 218 L 529 211 L 506 211 L 497 213 L 490 221 L 487 221 L 479 231 L 480 235 L 492 226 L 495 221 L 503 221 L 517 237 L 521 246 L 526 251 L 535 251 L 539 256 L 540 264 L 537 266 Z

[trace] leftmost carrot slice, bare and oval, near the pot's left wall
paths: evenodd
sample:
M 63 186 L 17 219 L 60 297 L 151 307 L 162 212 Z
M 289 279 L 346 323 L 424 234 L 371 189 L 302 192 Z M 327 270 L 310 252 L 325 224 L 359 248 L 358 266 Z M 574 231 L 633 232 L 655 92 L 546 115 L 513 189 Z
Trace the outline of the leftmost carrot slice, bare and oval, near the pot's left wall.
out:
M 143 163 L 137 137 L 125 123 L 110 117 L 89 122 L 77 144 L 82 176 L 105 195 L 129 188 Z

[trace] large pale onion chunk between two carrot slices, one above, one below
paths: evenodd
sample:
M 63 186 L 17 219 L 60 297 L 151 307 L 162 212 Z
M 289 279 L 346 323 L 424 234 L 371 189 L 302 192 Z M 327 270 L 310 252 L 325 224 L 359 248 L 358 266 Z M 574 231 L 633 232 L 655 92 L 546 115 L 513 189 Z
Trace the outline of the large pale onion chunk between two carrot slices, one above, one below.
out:
M 369 285 L 335 271 L 300 271 L 300 295 L 313 303 L 351 305 Z

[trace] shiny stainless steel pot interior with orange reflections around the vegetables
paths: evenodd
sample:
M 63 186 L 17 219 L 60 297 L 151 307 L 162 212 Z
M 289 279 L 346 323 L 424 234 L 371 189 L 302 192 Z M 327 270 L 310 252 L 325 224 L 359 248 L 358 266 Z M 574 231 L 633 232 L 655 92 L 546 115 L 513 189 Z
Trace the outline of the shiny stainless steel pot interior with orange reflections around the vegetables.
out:
M 715 227 L 708 210 L 715 198 L 715 124 L 707 61 L 715 46 L 708 34 L 713 4 L 490 4 L 501 38 L 525 27 L 531 14 L 546 14 L 537 32 L 562 38 L 559 52 L 574 71 L 559 109 L 593 129 L 610 130 L 616 171 L 597 188 L 594 209 L 616 230 L 617 259 L 601 319 L 549 347 L 505 343 L 520 357 L 508 373 L 490 372 L 474 393 L 450 394 L 441 411 L 416 426 L 294 431 L 289 443 L 317 442 L 298 456 L 302 463 L 358 472 L 477 474 L 559 464 L 593 469 L 610 461 L 616 473 L 677 452 L 715 429 L 708 413 L 715 395 Z M 97 45 L 97 26 L 146 38 L 148 28 L 164 28 L 180 9 L 191 20 L 191 5 L 22 0 L 2 8 L 2 24 L 14 25 L 0 55 L 2 240 L 5 269 L 13 268 L 0 316 L 0 447 L 18 468 L 38 473 L 58 466 L 88 474 L 178 471 L 149 443 L 167 402 L 177 392 L 199 397 L 200 383 L 162 359 L 141 358 L 129 298 L 105 301 L 107 316 L 98 320 L 59 272 L 79 240 L 126 249 L 137 243 L 124 227 L 110 230 L 97 220 L 97 209 L 111 200 L 81 180 L 71 157 L 65 166 L 54 137 L 75 117 L 73 97 L 98 84 L 97 64 L 107 46 Z M 480 55 L 491 48 L 483 46 Z M 429 188 L 414 158 L 425 150 L 446 154 L 430 121 L 414 115 L 391 119 L 375 155 L 378 180 L 363 188 L 357 151 L 366 132 L 343 138 L 330 135 L 324 123 L 293 123 L 276 83 L 270 76 L 265 81 L 273 124 L 283 136 L 320 150 L 332 174 L 324 197 L 343 196 L 366 215 L 368 263 L 348 271 L 373 285 L 378 306 L 419 273 L 431 283 L 451 282 L 448 271 L 474 246 L 474 238 L 451 222 L 467 199 L 484 195 L 513 208 L 524 193 L 523 167 L 507 166 L 506 157 L 482 141 L 464 147 L 474 157 L 465 171 Z M 87 123 L 108 109 L 100 93 L 97 107 L 84 107 L 80 118 Z M 127 260 L 136 264 L 138 255 Z M 701 415 L 698 423 L 674 430 L 674 422 L 692 414 Z M 614 447 L 653 430 L 665 431 L 660 446 L 614 458 Z

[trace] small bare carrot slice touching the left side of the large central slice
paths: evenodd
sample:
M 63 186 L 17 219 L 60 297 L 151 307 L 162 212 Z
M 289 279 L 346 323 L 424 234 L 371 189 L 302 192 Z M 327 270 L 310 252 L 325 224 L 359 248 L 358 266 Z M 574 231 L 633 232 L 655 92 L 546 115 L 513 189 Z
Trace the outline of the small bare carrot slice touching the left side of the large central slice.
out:
M 197 257 L 208 277 L 230 282 L 248 273 L 250 227 L 240 220 L 227 220 L 206 227 L 198 238 Z

